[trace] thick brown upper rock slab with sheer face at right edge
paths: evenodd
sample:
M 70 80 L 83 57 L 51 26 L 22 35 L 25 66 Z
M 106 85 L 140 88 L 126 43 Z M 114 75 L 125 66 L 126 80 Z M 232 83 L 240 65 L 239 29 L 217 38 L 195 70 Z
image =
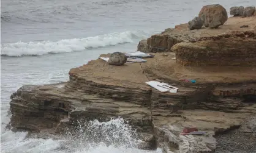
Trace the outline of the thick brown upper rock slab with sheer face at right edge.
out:
M 201 38 L 172 47 L 176 62 L 189 66 L 256 66 L 256 29 Z

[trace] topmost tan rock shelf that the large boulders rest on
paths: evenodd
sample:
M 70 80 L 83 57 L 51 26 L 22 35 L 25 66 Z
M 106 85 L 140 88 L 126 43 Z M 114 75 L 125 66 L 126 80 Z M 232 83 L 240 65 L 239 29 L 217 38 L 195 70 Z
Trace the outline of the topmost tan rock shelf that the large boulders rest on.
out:
M 249 28 L 240 28 L 247 24 Z M 200 38 L 213 37 L 232 31 L 252 30 L 256 27 L 256 16 L 241 18 L 239 16 L 228 18 L 220 29 L 202 28 L 200 30 L 189 30 L 188 24 L 180 24 L 175 28 L 165 29 L 162 34 L 152 35 L 147 40 L 141 40 L 138 51 L 143 52 L 170 52 L 176 43 L 195 42 Z

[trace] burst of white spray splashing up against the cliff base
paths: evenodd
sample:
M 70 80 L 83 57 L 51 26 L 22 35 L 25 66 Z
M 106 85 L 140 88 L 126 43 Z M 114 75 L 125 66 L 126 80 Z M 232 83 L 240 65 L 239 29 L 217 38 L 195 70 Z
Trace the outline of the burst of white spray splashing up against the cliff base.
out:
M 136 130 L 128 124 L 128 121 L 118 117 L 111 118 L 108 122 L 77 121 L 75 131 L 66 132 L 66 140 L 75 144 L 76 148 L 88 146 L 96 148 L 99 145 L 115 148 L 137 148 L 140 144 Z

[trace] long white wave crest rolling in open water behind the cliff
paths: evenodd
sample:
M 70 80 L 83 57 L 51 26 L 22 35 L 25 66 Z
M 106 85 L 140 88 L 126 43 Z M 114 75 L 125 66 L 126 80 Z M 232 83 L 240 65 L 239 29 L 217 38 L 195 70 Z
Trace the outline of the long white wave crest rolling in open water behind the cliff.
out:
M 100 48 L 121 43 L 133 43 L 134 38 L 139 38 L 138 34 L 126 31 L 121 33 L 111 33 L 96 37 L 73 38 L 60 41 L 40 41 L 40 42 L 17 42 L 1 44 L 1 55 L 22 56 L 22 55 L 44 55 L 49 53 L 62 53 L 83 51 L 88 48 Z

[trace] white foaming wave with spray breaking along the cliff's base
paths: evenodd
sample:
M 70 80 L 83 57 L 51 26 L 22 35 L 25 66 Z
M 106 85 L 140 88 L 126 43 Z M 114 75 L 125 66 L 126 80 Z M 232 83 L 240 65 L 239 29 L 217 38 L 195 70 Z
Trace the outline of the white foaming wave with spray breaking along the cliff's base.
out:
M 152 153 L 138 149 L 136 131 L 122 118 L 108 122 L 78 122 L 75 133 L 64 138 L 32 138 L 27 132 L 12 132 L 1 127 L 1 152 L 27 153 Z

